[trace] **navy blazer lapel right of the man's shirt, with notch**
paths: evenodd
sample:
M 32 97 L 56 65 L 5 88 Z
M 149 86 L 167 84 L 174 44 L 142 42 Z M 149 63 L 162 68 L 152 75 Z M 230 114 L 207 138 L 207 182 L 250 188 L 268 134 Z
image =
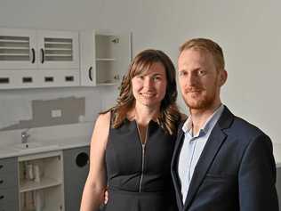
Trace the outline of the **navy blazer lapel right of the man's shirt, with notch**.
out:
M 213 159 L 215 158 L 218 150 L 221 149 L 221 144 L 227 137 L 227 135 L 222 132 L 222 129 L 230 126 L 233 121 L 233 117 L 233 114 L 231 114 L 229 109 L 225 106 L 221 114 L 221 118 L 213 127 L 213 131 L 210 134 L 208 141 L 205 144 L 205 148 L 197 162 L 197 166 L 195 167 L 194 174 L 189 185 L 188 196 L 184 203 L 184 210 L 188 210 L 188 207 L 191 205 L 200 184 L 205 178 L 205 174 L 213 163 Z

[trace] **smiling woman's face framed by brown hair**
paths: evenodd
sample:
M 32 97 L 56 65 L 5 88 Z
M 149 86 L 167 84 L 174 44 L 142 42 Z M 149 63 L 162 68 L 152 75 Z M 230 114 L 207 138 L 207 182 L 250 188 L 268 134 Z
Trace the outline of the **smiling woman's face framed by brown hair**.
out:
M 165 97 L 167 77 L 160 62 L 152 64 L 148 71 L 132 77 L 132 94 L 137 104 L 160 107 Z

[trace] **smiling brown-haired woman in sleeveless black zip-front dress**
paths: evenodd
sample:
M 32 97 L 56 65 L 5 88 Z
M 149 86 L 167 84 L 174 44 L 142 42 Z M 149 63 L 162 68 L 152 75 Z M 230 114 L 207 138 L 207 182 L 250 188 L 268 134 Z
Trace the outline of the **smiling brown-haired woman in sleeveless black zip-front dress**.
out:
M 170 164 L 177 126 L 173 62 L 145 50 L 132 61 L 116 106 L 101 113 L 91 142 L 81 211 L 176 211 Z

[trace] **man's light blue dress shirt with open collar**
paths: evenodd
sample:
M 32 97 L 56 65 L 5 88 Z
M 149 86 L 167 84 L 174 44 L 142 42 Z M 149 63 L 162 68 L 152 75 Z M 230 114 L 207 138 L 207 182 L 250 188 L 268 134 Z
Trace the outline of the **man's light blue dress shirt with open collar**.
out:
M 197 161 L 205 147 L 212 130 L 213 126 L 217 123 L 221 117 L 224 106 L 221 106 L 213 112 L 213 115 L 207 119 L 205 125 L 200 128 L 198 134 L 192 133 L 192 119 L 191 116 L 182 126 L 184 132 L 184 141 L 181 146 L 179 163 L 178 163 L 178 174 L 181 181 L 181 195 L 182 202 L 184 204 L 188 191 L 189 184 L 194 173 L 194 169 L 197 166 Z

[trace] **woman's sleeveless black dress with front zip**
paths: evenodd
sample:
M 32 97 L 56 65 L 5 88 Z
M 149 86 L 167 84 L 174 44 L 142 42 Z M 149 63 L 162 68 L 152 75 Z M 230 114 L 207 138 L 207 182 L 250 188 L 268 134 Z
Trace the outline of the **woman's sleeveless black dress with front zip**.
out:
M 136 121 L 110 128 L 106 149 L 106 211 L 177 211 L 170 165 L 176 136 L 149 122 L 141 143 Z

